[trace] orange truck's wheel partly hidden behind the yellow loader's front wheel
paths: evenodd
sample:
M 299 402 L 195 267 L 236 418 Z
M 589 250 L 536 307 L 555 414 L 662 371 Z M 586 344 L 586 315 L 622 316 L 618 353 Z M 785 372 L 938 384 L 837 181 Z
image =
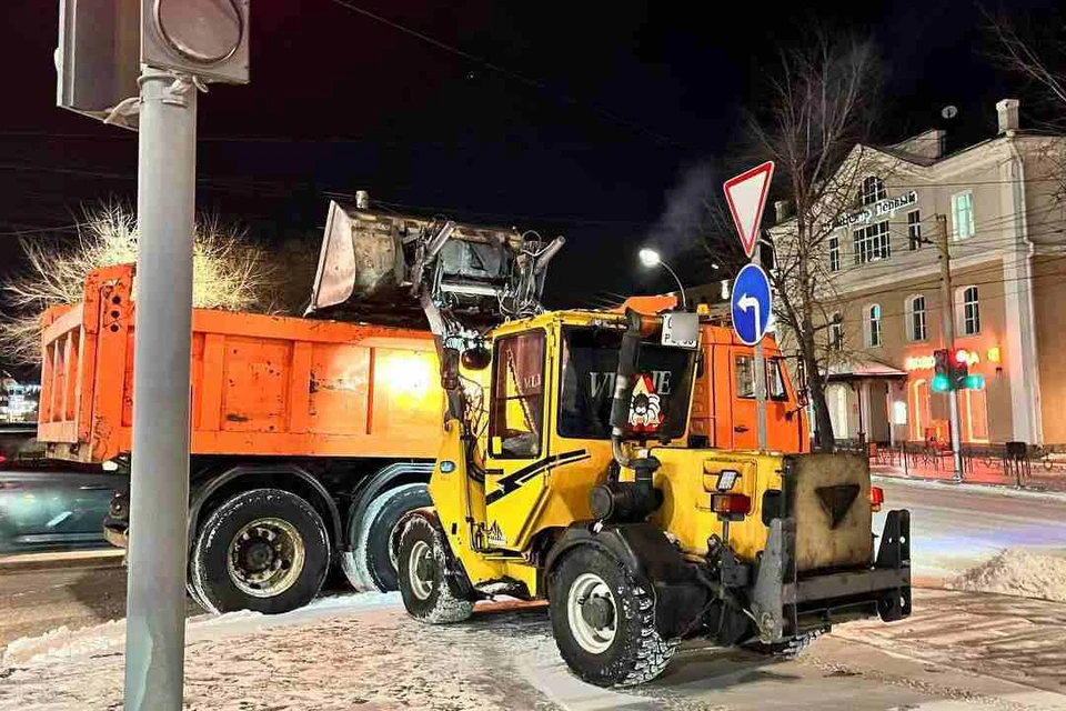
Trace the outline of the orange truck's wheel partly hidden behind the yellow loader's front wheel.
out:
M 411 483 L 382 491 L 370 502 L 359 520 L 349 519 L 348 540 L 352 550 L 344 553 L 341 567 L 355 590 L 396 590 L 396 561 L 390 553 L 393 529 L 408 511 L 433 505 L 424 483 Z

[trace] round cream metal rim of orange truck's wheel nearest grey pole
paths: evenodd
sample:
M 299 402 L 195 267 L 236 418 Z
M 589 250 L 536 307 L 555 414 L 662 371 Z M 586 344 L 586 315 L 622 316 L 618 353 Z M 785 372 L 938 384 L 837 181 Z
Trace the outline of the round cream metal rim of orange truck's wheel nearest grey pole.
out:
M 241 527 L 227 553 L 227 572 L 238 590 L 253 598 L 273 598 L 300 578 L 306 549 L 294 525 L 266 518 Z

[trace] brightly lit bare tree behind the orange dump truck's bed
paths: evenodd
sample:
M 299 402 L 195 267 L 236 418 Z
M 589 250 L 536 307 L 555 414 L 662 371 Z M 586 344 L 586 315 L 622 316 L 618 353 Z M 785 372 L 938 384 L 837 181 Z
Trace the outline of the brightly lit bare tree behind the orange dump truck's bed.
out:
M 0 320 L 3 359 L 23 364 L 39 362 L 40 316 L 44 309 L 81 300 L 91 270 L 137 261 L 137 221 L 121 204 L 88 209 L 73 244 L 23 240 L 27 273 L 2 289 L 7 311 Z M 241 230 L 212 218 L 199 220 L 193 242 L 194 306 L 276 310 L 272 299 L 279 280 L 288 273 L 271 264 L 268 253 L 251 244 Z

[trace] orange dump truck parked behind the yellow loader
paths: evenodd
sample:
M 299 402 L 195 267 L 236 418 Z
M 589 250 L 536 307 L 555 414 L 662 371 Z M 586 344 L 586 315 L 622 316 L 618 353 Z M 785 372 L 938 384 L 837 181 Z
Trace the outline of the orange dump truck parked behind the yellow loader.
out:
M 132 266 L 97 270 L 82 302 L 43 318 L 39 438 L 53 458 L 120 470 L 105 522 L 118 545 L 128 529 L 133 276 Z M 190 594 L 219 611 L 283 612 L 318 593 L 331 563 L 356 589 L 394 589 L 389 534 L 406 511 L 430 505 L 442 437 L 432 336 L 207 309 L 192 326 Z M 721 327 L 704 324 L 702 338 L 690 437 L 754 448 L 752 349 Z M 770 445 L 800 451 L 806 420 L 770 340 L 766 358 Z

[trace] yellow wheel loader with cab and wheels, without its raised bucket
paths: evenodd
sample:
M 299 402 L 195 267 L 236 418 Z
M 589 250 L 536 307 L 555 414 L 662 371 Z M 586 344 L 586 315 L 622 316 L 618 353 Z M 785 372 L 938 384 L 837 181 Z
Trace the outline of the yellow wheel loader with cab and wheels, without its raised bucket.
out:
M 411 615 L 547 599 L 570 668 L 613 685 L 654 679 L 686 638 L 790 653 L 909 614 L 909 514 L 875 551 L 866 459 L 686 444 L 696 318 L 549 312 L 443 349 L 433 507 L 392 540 Z

